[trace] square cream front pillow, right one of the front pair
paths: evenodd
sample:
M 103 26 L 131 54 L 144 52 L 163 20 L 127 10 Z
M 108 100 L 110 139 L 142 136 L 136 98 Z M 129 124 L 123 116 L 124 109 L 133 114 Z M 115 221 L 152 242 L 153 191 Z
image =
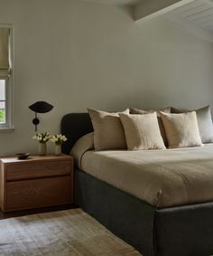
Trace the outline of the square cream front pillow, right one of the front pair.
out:
M 195 111 L 181 114 L 166 114 L 161 112 L 161 117 L 169 147 L 202 146 Z

